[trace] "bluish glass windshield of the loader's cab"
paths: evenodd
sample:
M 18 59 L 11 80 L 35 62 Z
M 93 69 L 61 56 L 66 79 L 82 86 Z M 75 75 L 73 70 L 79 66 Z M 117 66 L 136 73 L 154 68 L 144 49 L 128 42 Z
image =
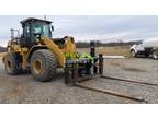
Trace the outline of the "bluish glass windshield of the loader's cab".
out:
M 33 24 L 33 33 L 35 35 L 52 37 L 50 25 L 43 22 L 36 22 Z

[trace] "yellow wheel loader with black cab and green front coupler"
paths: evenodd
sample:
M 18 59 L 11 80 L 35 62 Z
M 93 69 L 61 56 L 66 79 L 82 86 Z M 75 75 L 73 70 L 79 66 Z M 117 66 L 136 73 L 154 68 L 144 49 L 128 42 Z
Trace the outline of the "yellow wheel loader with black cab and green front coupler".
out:
M 94 67 L 93 58 L 88 54 L 77 52 L 74 37 L 53 38 L 54 27 L 50 21 L 29 17 L 20 23 L 23 33 L 14 37 L 15 32 L 20 33 L 18 30 L 11 30 L 8 52 L 3 57 L 8 74 L 31 70 L 35 80 L 45 82 L 54 79 L 57 68 L 67 70 L 74 66 L 80 67 L 80 76 L 82 73 L 90 74 L 91 68 Z M 97 67 L 94 68 L 97 71 Z

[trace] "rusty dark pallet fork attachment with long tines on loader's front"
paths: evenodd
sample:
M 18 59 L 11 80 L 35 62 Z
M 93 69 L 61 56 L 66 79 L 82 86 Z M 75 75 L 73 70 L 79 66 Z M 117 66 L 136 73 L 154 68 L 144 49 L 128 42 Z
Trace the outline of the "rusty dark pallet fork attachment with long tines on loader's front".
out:
M 122 94 L 120 92 L 114 92 L 111 90 L 104 90 L 104 88 L 86 85 L 83 82 L 88 81 L 88 80 L 92 80 L 92 79 L 97 79 L 97 78 L 109 79 L 109 80 L 111 79 L 110 76 L 106 78 L 103 75 L 104 58 L 103 58 L 102 54 L 100 54 L 98 57 L 95 57 L 95 48 L 94 48 L 93 43 L 90 48 L 90 54 L 91 54 L 91 56 L 93 56 L 93 61 L 91 62 L 91 72 L 89 74 L 81 74 L 79 71 L 81 69 L 80 64 L 84 64 L 84 62 L 88 62 L 88 59 L 66 60 L 65 84 L 90 90 L 93 92 L 100 92 L 100 93 L 104 93 L 104 94 L 114 95 L 114 96 L 127 98 L 131 101 L 147 103 L 142 97 L 134 97 L 131 95 Z M 114 80 L 114 78 L 112 80 Z M 116 80 L 116 78 L 115 78 L 115 80 Z M 120 81 L 120 79 L 119 79 L 119 81 Z M 122 80 L 122 81 L 124 81 L 124 80 Z M 133 82 L 133 81 L 127 81 L 127 82 Z M 142 83 L 142 82 L 135 82 L 135 83 Z M 142 83 L 142 84 L 144 84 L 144 83 Z

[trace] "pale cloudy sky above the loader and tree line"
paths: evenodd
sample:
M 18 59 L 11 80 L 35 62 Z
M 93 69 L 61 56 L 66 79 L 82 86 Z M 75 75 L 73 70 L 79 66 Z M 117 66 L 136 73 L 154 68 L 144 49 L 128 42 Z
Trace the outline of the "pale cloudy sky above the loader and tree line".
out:
M 0 46 L 7 46 L 10 28 L 20 30 L 20 21 L 43 15 L 0 15 Z M 128 42 L 158 36 L 158 15 L 47 15 L 54 37 L 74 36 L 78 42 Z

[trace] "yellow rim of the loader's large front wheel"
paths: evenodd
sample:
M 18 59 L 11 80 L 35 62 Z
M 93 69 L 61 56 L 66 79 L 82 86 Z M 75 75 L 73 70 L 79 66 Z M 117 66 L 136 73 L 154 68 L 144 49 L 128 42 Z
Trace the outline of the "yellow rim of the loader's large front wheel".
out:
M 40 59 L 34 60 L 33 70 L 36 74 L 40 74 L 42 71 L 42 61 Z

